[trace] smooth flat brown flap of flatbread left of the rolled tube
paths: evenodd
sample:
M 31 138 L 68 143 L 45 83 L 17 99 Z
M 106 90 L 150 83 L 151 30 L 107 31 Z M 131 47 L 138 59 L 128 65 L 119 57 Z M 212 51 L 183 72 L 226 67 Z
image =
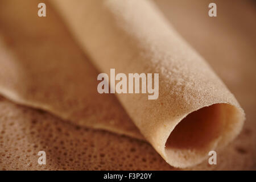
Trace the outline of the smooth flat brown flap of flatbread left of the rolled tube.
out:
M 0 3 L 3 96 L 80 126 L 143 139 L 114 95 L 97 92 L 98 72 L 51 6 L 44 19 L 35 14 L 39 1 Z

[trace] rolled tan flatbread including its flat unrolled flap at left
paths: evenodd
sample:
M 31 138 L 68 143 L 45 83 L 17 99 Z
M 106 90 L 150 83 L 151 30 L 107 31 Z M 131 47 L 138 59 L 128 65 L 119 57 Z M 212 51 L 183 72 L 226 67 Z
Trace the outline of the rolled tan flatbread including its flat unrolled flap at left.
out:
M 1 1 L 3 96 L 78 125 L 146 138 L 175 167 L 202 162 L 240 132 L 244 113 L 234 96 L 153 3 L 55 2 L 98 71 L 159 73 L 158 99 L 117 94 L 125 110 L 113 94 L 97 93 L 96 69 L 51 7 L 44 20 L 33 15 L 36 5 Z

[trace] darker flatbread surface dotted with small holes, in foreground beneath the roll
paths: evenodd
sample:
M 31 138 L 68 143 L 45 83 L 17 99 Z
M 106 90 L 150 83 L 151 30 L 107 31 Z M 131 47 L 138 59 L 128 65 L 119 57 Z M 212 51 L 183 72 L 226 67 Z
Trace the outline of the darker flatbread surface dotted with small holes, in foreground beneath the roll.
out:
M 245 170 L 253 165 L 249 129 L 224 151 L 186 170 Z M 39 151 L 46 165 L 39 165 Z M 179 170 L 141 140 L 80 127 L 0 97 L 0 170 Z

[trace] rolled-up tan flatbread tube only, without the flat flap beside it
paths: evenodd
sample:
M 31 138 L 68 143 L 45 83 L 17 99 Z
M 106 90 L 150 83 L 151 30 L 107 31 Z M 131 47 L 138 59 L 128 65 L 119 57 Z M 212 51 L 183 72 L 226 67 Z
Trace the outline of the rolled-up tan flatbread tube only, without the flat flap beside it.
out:
M 101 72 L 109 73 L 110 68 L 115 68 L 125 74 L 159 73 L 158 100 L 148 101 L 143 94 L 117 94 L 117 97 L 167 163 L 183 168 L 198 164 L 207 158 L 210 150 L 225 146 L 240 133 L 245 114 L 236 98 L 153 3 L 52 2 Z M 183 140 L 188 146 L 177 147 L 174 143 L 182 139 L 172 137 L 171 132 L 181 122 L 181 133 L 176 133 L 184 135 L 182 131 L 189 129 L 191 122 L 183 119 L 197 110 L 195 115 L 200 121 L 194 121 L 194 130 L 186 133 L 193 134 L 193 142 Z M 210 117 L 213 113 L 214 117 Z M 212 127 L 205 125 L 205 118 Z M 207 134 L 197 132 L 196 127 L 200 126 L 196 123 L 203 123 L 202 131 L 207 129 Z M 201 137 L 205 138 L 204 143 L 196 147 L 193 143 Z

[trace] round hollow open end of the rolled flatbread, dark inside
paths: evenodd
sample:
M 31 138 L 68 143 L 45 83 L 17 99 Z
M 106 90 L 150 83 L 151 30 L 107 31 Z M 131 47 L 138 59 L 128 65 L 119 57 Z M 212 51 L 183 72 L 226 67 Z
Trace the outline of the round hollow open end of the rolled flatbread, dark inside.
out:
M 226 146 L 241 131 L 241 107 L 213 104 L 183 118 L 167 139 L 165 153 L 171 166 L 186 168 L 209 158 L 209 151 Z

